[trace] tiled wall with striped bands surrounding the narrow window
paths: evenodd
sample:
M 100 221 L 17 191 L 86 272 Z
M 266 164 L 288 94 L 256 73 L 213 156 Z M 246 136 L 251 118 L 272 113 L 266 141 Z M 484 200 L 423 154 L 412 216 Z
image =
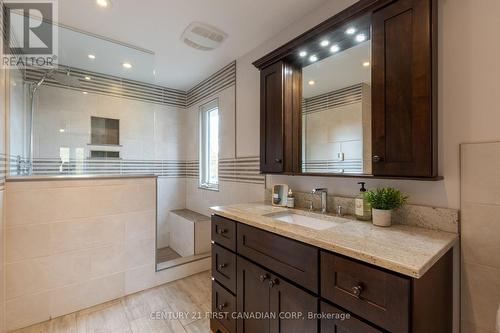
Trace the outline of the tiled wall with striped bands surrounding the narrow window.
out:
M 186 178 L 186 207 L 209 215 L 209 207 L 264 200 L 265 177 L 259 171 L 258 152 L 241 156 L 236 147 L 236 66 L 232 63 L 188 93 L 182 150 L 191 161 Z M 216 89 L 217 88 L 217 89 Z M 198 95 L 192 95 L 197 92 Z M 199 109 L 208 101 L 219 101 L 219 190 L 198 186 Z M 191 103 L 189 103 L 191 101 Z

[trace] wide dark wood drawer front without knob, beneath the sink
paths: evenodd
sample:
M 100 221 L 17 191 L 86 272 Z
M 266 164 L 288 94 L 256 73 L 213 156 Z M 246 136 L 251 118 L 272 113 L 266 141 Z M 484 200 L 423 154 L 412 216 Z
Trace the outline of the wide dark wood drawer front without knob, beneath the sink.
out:
M 318 249 L 267 231 L 238 224 L 238 254 L 318 291 Z

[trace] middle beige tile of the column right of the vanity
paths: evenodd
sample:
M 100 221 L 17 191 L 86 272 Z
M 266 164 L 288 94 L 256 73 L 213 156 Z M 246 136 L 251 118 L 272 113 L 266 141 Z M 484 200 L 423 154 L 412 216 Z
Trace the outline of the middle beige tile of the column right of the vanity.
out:
M 500 206 L 465 202 L 462 207 L 463 261 L 500 269 L 500 256 L 493 253 L 500 253 Z

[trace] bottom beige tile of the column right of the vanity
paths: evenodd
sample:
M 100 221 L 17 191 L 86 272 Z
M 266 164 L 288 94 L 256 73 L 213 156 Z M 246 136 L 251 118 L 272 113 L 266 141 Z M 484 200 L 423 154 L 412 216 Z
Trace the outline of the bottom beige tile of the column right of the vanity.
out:
M 500 307 L 500 269 L 462 265 L 461 319 L 485 330 L 495 330 Z

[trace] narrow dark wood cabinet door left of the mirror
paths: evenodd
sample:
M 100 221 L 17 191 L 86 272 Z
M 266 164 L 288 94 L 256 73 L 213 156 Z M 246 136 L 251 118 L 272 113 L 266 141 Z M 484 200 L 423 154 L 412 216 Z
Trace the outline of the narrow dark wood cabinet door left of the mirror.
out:
M 260 72 L 260 169 L 283 172 L 284 64 L 278 62 Z

